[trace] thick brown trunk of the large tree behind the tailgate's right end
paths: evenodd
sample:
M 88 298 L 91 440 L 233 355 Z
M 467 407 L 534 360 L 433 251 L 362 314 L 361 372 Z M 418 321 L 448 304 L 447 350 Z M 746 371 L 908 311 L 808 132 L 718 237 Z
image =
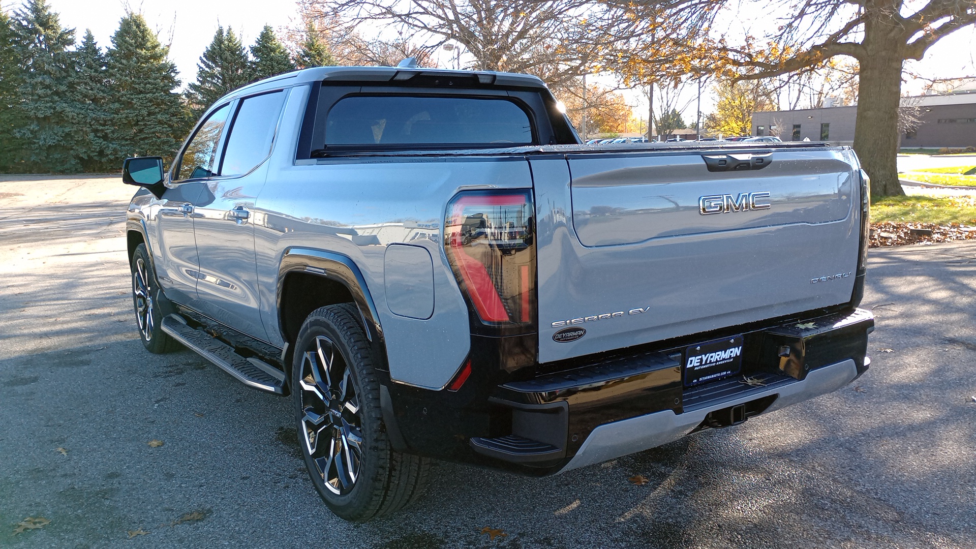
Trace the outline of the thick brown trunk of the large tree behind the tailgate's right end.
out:
M 899 30 L 884 18 L 865 25 L 854 150 L 871 177 L 873 196 L 905 194 L 898 182 L 898 107 L 905 59 L 905 39 Z

